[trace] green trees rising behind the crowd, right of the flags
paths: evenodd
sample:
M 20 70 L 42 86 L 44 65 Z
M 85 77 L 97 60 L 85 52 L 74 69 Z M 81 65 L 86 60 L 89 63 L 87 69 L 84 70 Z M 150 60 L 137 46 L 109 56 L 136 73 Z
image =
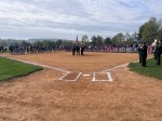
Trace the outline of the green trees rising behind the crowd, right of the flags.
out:
M 92 45 L 100 46 L 108 44 L 137 44 L 139 42 L 151 44 L 154 39 L 162 40 L 162 19 L 151 17 L 138 28 L 138 32 L 135 31 L 132 35 L 119 32 L 112 38 L 107 37 L 105 39 L 102 36 L 93 36 L 91 40 Z

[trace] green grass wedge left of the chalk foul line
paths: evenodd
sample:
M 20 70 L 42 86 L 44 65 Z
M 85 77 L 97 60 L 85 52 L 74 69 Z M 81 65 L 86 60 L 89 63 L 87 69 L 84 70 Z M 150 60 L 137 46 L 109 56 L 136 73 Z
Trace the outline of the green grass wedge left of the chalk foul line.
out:
M 0 82 L 12 78 L 27 76 L 42 67 L 33 66 L 17 60 L 0 57 Z

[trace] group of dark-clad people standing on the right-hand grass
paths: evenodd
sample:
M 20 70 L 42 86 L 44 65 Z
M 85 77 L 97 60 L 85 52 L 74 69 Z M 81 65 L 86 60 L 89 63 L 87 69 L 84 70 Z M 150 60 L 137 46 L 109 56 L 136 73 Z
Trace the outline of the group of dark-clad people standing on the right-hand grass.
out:
M 157 65 L 159 66 L 161 63 L 162 41 L 156 39 L 151 46 L 152 46 L 152 53 L 154 59 L 157 62 Z M 148 52 L 147 48 L 148 45 L 146 43 L 138 44 L 139 63 L 144 67 L 146 67 L 146 59 L 147 59 L 147 52 Z

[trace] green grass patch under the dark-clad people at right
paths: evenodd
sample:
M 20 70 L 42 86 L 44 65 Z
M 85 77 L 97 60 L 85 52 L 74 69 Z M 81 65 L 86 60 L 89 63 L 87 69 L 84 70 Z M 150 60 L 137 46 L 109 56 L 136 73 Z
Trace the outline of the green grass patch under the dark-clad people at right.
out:
M 162 58 L 162 57 L 161 57 Z M 156 59 L 147 59 L 147 66 L 143 67 L 139 63 L 131 63 L 129 65 L 130 69 L 136 71 L 140 75 L 162 79 L 162 64 L 160 66 L 156 65 Z

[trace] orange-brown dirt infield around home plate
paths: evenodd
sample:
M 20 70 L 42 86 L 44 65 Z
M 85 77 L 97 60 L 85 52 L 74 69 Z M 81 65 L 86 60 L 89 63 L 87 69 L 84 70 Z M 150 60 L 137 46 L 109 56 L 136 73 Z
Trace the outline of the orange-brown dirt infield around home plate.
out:
M 119 66 L 137 60 L 137 54 L 72 56 L 56 52 L 6 56 L 46 68 L 0 83 L 0 121 L 162 120 L 161 80 Z M 97 80 L 108 80 L 110 77 L 103 71 L 110 73 L 112 82 L 92 81 L 94 72 L 100 72 L 96 73 Z

